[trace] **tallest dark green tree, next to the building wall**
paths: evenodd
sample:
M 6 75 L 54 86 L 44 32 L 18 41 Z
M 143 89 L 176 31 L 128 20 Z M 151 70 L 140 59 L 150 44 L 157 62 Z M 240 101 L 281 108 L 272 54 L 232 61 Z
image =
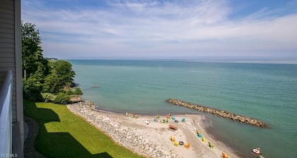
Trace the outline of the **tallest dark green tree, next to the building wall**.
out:
M 27 99 L 41 101 L 42 84 L 49 72 L 47 60 L 43 58 L 40 47 L 41 37 L 35 25 L 30 23 L 22 23 L 21 34 L 23 95 Z

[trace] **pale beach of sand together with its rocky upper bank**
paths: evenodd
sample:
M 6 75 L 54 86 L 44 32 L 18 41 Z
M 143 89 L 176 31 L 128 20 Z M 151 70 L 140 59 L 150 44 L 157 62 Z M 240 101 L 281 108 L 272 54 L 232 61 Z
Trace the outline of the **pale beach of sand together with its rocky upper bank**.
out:
M 115 114 L 96 110 L 91 102 L 78 102 L 67 107 L 118 144 L 145 157 L 221 157 L 222 152 L 228 157 L 238 157 L 222 142 L 214 140 L 206 133 L 202 128 L 202 115 L 170 116 L 167 123 L 166 116 Z M 177 130 L 169 130 L 169 125 L 175 126 Z M 202 138 L 197 137 L 197 131 L 203 136 L 204 142 Z M 171 141 L 170 138 L 175 138 L 175 141 Z M 180 141 L 189 143 L 190 147 L 175 145 L 174 142 Z M 213 148 L 209 147 L 209 142 L 214 145 Z

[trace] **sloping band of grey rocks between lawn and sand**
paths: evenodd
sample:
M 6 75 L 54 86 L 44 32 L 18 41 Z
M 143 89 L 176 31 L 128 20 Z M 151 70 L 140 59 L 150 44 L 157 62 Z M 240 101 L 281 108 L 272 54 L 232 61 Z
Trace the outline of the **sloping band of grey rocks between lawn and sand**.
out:
M 145 137 L 146 133 L 124 125 L 119 119 L 110 118 L 104 114 L 96 114 L 95 105 L 92 102 L 82 101 L 67 105 L 74 114 L 83 116 L 93 126 L 109 135 L 119 145 L 145 157 L 176 157 L 173 150 L 163 150 L 158 144 Z

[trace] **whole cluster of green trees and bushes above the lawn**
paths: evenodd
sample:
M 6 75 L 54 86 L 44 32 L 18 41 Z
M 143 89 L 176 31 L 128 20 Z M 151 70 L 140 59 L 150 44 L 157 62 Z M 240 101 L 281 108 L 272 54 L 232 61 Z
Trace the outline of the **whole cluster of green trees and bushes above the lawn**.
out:
M 75 72 L 69 61 L 43 57 L 42 39 L 34 24 L 22 22 L 21 35 L 25 99 L 67 104 L 71 95 L 83 94 L 75 87 Z

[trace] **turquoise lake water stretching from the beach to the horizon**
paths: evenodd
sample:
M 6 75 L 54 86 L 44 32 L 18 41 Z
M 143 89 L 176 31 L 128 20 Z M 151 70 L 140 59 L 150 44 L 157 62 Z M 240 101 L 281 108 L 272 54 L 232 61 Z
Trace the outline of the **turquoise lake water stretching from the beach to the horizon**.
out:
M 177 98 L 250 116 L 272 128 L 209 117 L 209 133 L 243 157 L 297 157 L 297 64 L 71 60 L 83 98 L 136 114 L 197 113 Z M 98 87 L 99 86 L 99 87 Z

